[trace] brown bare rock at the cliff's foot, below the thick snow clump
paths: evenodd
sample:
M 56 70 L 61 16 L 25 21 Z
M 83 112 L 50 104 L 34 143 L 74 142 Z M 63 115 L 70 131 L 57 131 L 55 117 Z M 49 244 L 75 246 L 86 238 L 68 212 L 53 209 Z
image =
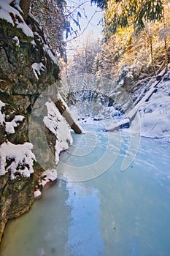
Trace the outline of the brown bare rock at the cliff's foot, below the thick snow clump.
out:
M 10 180 L 9 173 L 0 176 L 0 238 L 8 219 L 19 217 L 29 210 L 34 202 L 34 175 Z

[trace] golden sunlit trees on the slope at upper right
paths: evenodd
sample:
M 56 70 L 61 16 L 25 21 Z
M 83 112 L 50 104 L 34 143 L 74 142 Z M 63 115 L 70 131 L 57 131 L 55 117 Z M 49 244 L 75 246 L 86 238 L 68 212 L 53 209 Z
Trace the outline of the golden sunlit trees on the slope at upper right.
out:
M 97 1 L 98 2 L 98 1 Z M 109 59 L 110 76 L 127 63 L 156 75 L 168 65 L 169 1 L 107 1 L 101 67 Z M 142 70 L 143 69 L 143 70 Z M 107 74 L 109 75 L 109 74 Z

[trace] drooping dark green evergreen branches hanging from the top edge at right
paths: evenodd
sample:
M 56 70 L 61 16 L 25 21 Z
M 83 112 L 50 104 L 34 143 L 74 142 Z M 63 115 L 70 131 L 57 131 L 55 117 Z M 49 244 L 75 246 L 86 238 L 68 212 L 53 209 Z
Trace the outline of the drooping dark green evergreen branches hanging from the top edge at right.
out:
M 163 1 L 109 0 L 104 17 L 107 37 L 120 27 L 134 26 L 134 30 L 139 31 L 144 28 L 146 22 L 163 18 Z

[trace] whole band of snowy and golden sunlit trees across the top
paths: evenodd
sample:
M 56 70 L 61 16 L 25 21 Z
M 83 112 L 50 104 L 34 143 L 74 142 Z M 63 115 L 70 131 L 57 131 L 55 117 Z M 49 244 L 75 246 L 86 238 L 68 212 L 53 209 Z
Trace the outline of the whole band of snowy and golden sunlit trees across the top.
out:
M 85 1 L 86 2 L 86 1 Z M 72 4 L 71 4 L 72 3 Z M 83 73 L 115 79 L 128 64 L 136 80 L 157 75 L 169 62 L 170 20 L 168 0 L 91 0 L 104 10 L 103 39 L 89 36 L 66 59 L 66 39 L 77 37 L 83 1 L 20 1 L 24 18 L 28 10 L 45 32 L 50 47 L 66 62 L 63 75 Z M 62 66 L 63 69 L 63 66 Z M 63 71 L 63 70 L 62 70 Z

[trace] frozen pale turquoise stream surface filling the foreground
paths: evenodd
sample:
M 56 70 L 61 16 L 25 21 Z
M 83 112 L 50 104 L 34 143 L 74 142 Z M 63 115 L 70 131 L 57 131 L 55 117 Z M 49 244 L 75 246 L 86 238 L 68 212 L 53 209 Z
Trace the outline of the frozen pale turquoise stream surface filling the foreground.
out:
M 142 138 L 121 171 L 128 135 L 121 146 L 120 133 L 93 135 L 74 135 L 58 165 L 69 181 L 45 189 L 28 214 L 9 222 L 1 256 L 169 256 L 170 144 Z M 86 181 L 72 181 L 77 173 Z

